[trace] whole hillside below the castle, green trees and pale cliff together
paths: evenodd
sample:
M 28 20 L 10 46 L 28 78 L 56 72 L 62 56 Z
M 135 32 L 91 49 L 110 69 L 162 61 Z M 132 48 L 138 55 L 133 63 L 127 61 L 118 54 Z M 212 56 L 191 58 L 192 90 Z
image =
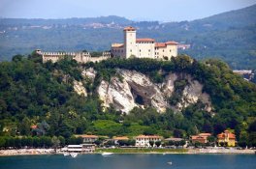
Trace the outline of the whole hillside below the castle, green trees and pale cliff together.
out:
M 249 136 L 247 130 L 255 121 L 255 84 L 220 61 L 201 63 L 179 56 L 170 62 L 41 62 L 32 54 L 0 63 L 1 135 L 187 137 L 229 127 L 240 140 L 244 131 Z M 110 98 L 104 99 L 105 93 Z M 133 104 L 122 104 L 126 100 Z M 32 125 L 39 128 L 30 130 Z

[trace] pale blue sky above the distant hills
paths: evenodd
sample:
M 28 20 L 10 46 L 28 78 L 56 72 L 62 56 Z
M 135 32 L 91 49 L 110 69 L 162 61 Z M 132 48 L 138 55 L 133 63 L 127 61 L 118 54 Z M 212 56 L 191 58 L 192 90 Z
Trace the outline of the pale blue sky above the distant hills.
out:
M 256 4 L 256 0 L 0 0 L 0 17 L 67 18 L 119 15 L 136 20 L 203 18 Z

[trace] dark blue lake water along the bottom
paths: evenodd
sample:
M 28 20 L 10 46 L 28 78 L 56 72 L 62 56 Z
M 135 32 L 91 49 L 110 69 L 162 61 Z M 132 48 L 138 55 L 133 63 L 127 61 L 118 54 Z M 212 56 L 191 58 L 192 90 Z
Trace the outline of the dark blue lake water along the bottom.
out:
M 172 162 L 170 165 L 168 162 Z M 256 155 L 0 156 L 1 169 L 256 169 Z

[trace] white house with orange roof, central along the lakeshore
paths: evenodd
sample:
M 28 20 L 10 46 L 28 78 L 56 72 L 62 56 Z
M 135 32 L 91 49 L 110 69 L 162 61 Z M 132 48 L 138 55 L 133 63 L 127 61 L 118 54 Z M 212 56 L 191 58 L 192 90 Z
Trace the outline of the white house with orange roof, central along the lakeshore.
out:
M 135 137 L 135 140 L 136 147 L 150 147 L 150 141 L 153 141 L 155 143 L 157 141 L 161 141 L 162 137 L 159 135 L 139 135 Z

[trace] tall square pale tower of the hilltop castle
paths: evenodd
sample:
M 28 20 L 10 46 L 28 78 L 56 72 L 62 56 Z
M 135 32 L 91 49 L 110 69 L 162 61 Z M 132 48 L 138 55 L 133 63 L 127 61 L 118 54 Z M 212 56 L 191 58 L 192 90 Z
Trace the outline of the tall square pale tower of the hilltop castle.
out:
M 134 27 L 128 26 L 123 29 L 123 33 L 125 57 L 129 58 L 132 55 L 137 56 L 136 29 Z

